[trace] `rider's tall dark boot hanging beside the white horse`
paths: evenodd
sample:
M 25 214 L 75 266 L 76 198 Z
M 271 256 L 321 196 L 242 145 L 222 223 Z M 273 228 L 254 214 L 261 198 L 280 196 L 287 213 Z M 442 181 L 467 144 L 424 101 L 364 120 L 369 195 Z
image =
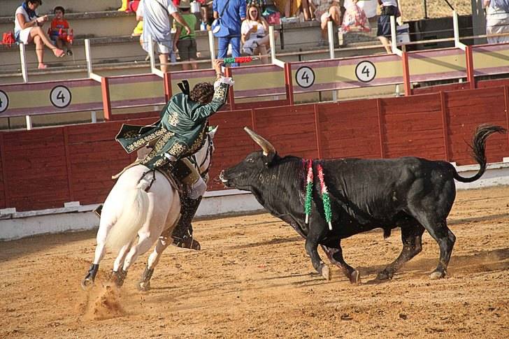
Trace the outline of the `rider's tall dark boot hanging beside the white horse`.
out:
M 180 199 L 180 219 L 177 226 L 173 229 L 171 238 L 173 245 L 177 247 L 189 248 L 191 250 L 200 250 L 201 246 L 197 240 L 193 239 L 192 219 L 198 210 L 201 202 L 201 196 L 198 199 L 191 199 L 189 196 L 183 196 Z

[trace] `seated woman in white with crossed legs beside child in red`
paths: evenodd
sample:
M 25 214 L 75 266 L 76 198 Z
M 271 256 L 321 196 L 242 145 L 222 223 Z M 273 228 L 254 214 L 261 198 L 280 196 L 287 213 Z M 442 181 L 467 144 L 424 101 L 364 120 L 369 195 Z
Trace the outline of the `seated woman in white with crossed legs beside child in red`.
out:
M 22 6 L 16 9 L 14 19 L 14 35 L 19 43 L 28 44 L 34 41 L 36 45 L 38 68 L 46 68 L 43 62 L 44 45 L 53 51 L 55 57 L 63 57 L 63 50 L 56 48 L 41 28 L 44 22 L 48 21 L 48 15 L 39 17 L 36 9 L 43 2 L 41 0 L 24 0 Z

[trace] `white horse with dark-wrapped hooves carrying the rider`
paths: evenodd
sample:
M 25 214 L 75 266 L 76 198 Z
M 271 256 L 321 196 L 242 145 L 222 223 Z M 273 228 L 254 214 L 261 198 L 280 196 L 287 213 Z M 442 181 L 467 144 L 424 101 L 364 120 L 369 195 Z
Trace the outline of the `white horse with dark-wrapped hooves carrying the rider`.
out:
M 203 147 L 194 154 L 196 161 L 193 162 L 202 174 L 210 166 L 216 131 L 217 127 L 208 132 Z M 112 278 L 120 287 L 138 256 L 157 242 L 138 284 L 139 289 L 150 288 L 150 277 L 162 252 L 172 242 L 171 233 L 180 218 L 180 197 L 162 173 L 155 171 L 143 175 L 147 171 L 143 165 L 128 168 L 108 194 L 101 211 L 94 262 L 81 282 L 83 289 L 94 284 L 106 249 L 118 251 Z

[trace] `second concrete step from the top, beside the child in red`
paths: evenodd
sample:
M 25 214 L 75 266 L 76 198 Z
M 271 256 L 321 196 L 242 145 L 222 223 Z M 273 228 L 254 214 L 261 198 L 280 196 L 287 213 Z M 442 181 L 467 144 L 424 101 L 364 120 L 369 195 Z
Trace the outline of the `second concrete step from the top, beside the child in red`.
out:
M 66 15 L 75 37 L 83 36 L 127 36 L 136 26 L 134 13 L 110 10 L 105 12 L 69 13 Z M 43 31 L 48 31 L 50 22 L 46 22 Z M 14 31 L 14 17 L 0 17 L 0 32 Z

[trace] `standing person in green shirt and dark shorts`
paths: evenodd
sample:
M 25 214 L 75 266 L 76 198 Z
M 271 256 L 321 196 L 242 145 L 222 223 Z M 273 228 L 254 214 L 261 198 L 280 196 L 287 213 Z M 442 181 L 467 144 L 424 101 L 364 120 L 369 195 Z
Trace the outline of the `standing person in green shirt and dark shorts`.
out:
M 182 11 L 182 19 L 187 22 L 191 33 L 187 34 L 182 31 L 182 25 L 177 24 L 177 32 L 175 33 L 175 41 L 173 42 L 173 50 L 178 49 L 180 55 L 180 61 L 195 61 L 196 60 L 196 38 L 194 34 L 194 27 L 196 27 L 196 15 L 191 13 L 191 4 L 189 0 L 180 0 L 178 8 Z M 193 69 L 198 69 L 198 64 L 193 62 L 191 64 Z M 182 69 L 187 71 L 189 64 L 182 64 Z

